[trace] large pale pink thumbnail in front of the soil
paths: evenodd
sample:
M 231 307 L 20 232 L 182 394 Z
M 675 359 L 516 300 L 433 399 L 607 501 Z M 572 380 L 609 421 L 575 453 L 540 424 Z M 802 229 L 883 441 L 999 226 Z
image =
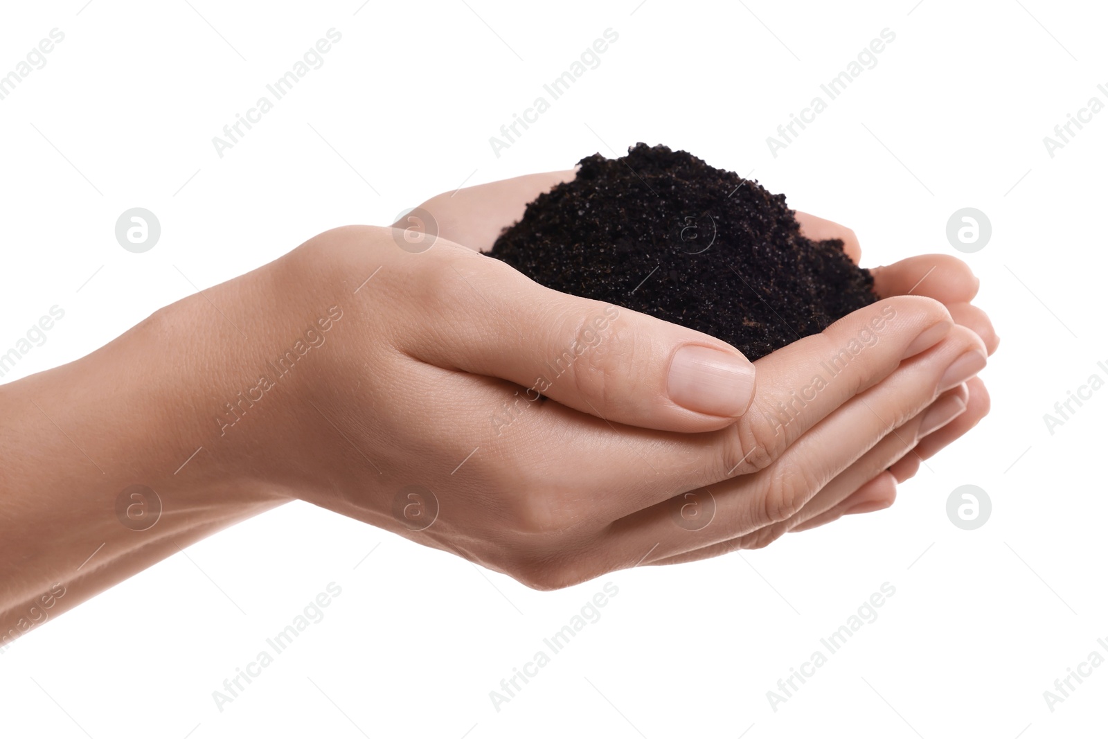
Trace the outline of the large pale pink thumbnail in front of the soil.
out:
M 755 397 L 755 366 L 741 355 L 681 347 L 669 365 L 669 399 L 711 415 L 742 415 Z

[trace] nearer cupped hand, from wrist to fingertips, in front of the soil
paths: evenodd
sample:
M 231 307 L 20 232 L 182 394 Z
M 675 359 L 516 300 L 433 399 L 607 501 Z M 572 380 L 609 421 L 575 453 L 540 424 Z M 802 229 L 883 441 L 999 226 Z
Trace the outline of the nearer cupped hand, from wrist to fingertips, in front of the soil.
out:
M 447 238 L 401 242 L 348 227 L 275 266 L 301 319 L 349 318 L 293 381 L 295 443 L 275 434 L 259 455 L 297 497 L 534 587 L 791 525 L 900 459 L 921 412 L 985 361 L 942 304 L 893 297 L 763 357 L 746 412 L 709 415 L 667 394 L 670 358 L 726 345 Z M 820 367 L 834 370 L 817 387 Z M 708 525 L 683 515 L 690 492 L 711 495 Z

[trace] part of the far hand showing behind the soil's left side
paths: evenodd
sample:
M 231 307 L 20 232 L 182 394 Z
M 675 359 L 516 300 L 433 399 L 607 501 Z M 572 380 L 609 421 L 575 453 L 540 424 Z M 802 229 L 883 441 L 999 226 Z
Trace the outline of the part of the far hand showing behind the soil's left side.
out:
M 543 172 L 435 195 L 420 206 L 432 218 L 425 228 L 471 249 L 489 252 L 501 232 L 523 217 L 527 203 L 575 174 L 575 170 Z M 408 226 L 404 218 L 393 224 L 394 228 Z

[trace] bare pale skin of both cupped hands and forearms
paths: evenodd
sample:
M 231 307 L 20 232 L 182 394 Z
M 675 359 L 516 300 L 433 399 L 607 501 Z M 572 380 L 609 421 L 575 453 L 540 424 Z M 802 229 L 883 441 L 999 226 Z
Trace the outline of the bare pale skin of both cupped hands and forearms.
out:
M 291 500 L 540 589 L 765 546 L 891 505 L 897 482 L 987 413 L 976 374 L 996 335 L 971 305 L 976 278 L 942 255 L 879 268 L 883 300 L 759 359 L 757 382 L 737 381 L 718 406 L 676 402 L 667 378 L 683 348 L 745 360 L 478 254 L 573 174 L 431 198 L 439 238 L 422 253 L 400 248 L 396 228 L 324 233 L 78 361 L 0 386 L 0 639 Z M 859 258 L 853 232 L 798 219 Z M 521 403 L 598 316 L 595 347 L 542 389 L 546 400 Z M 774 422 L 776 403 L 868 329 L 879 338 Z M 311 348 L 278 378 L 270 362 L 306 337 Z M 517 413 L 497 427 L 505 404 Z M 135 484 L 163 504 L 145 531 L 116 515 Z M 393 513 L 408 485 L 439 501 L 421 531 Z M 683 494 L 706 490 L 711 522 L 677 525 Z

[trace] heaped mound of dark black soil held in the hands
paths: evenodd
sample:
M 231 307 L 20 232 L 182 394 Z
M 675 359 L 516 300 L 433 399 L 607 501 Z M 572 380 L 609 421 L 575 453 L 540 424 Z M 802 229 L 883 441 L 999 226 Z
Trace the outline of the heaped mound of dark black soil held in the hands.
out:
M 491 256 L 555 290 L 710 333 L 751 360 L 878 299 L 842 242 L 800 235 L 784 195 L 666 146 L 583 158 Z

